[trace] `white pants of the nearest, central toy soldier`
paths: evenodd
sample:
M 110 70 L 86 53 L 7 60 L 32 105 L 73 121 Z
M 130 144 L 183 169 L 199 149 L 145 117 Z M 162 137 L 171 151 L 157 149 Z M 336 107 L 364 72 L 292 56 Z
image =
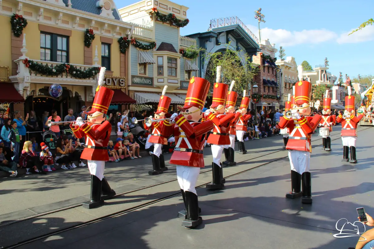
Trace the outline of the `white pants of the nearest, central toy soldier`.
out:
M 181 189 L 184 191 L 196 193 L 196 182 L 199 178 L 200 168 L 177 165 L 177 179 Z

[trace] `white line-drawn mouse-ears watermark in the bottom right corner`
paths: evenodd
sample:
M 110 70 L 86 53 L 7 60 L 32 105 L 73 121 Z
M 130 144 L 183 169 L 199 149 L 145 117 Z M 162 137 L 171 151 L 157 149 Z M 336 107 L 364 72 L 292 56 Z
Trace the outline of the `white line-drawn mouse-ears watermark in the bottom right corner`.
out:
M 363 240 L 359 241 L 366 241 L 366 238 L 360 235 L 366 231 L 365 224 L 361 221 L 355 221 L 352 224 L 351 222 L 348 222 L 346 218 L 342 218 L 336 222 L 335 228 L 340 232 L 334 234 L 335 238 L 361 237 Z

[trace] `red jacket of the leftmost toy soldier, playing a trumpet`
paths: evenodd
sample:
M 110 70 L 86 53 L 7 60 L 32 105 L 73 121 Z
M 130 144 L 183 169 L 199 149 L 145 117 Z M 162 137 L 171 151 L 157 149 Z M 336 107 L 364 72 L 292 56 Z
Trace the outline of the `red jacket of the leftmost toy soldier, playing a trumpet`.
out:
M 86 136 L 86 146 L 80 158 L 93 161 L 108 161 L 108 141 L 112 126 L 108 121 L 102 124 L 86 122 L 81 127 L 73 123 L 70 128 L 77 138 Z

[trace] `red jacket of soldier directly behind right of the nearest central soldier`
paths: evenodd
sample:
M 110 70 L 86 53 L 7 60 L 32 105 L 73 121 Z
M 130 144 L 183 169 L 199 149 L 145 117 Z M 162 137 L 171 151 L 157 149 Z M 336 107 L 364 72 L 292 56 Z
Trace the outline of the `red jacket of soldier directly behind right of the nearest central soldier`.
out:
M 213 122 L 214 128 L 209 134 L 207 142 L 217 145 L 230 144 L 230 121 L 234 118 L 234 113 L 227 113 L 226 115 L 209 113 L 208 119 Z

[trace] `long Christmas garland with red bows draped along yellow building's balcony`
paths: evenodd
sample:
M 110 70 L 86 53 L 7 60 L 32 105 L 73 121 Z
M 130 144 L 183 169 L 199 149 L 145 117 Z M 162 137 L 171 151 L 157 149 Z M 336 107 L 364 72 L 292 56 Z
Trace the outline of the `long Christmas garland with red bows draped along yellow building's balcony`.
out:
M 81 70 L 73 65 L 70 64 L 59 64 L 56 66 L 47 66 L 39 62 L 35 62 L 33 60 L 28 60 L 27 58 L 22 60 L 27 68 L 30 68 L 31 71 L 36 72 L 37 74 L 45 75 L 45 76 L 59 76 L 62 73 L 67 72 L 72 77 L 79 78 L 79 79 L 88 79 L 94 78 L 96 74 L 100 72 L 99 67 L 89 68 L 86 70 Z

